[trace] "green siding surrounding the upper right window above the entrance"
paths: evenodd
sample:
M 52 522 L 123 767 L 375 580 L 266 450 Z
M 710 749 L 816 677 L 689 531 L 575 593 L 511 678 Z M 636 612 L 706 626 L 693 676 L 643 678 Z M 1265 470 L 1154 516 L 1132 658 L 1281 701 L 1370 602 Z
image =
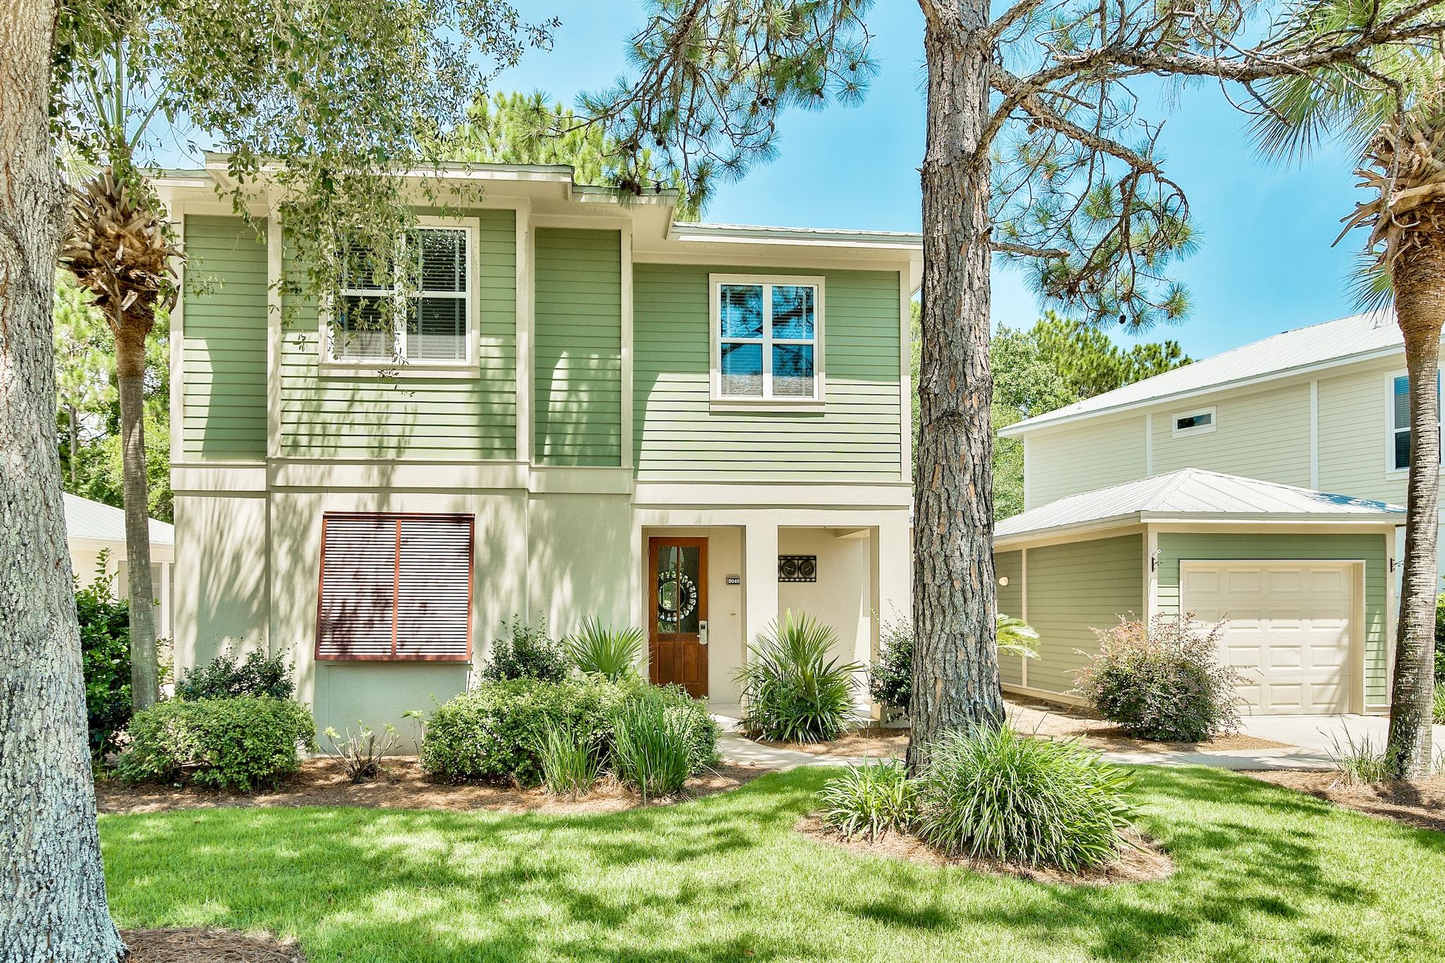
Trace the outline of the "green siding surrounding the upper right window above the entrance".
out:
M 709 273 L 824 276 L 824 411 L 709 410 Z M 639 478 L 899 479 L 897 273 L 637 264 L 633 305 Z

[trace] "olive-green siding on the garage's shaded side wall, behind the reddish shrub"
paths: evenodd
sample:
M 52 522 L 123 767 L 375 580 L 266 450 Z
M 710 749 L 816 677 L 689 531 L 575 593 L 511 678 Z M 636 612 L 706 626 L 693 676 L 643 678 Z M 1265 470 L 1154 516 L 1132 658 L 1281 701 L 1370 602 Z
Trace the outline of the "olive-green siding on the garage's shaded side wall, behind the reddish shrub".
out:
M 1029 624 L 1039 657 L 1029 687 L 1066 693 L 1098 650 L 1095 628 L 1144 612 L 1144 537 L 1120 536 L 1029 549 Z

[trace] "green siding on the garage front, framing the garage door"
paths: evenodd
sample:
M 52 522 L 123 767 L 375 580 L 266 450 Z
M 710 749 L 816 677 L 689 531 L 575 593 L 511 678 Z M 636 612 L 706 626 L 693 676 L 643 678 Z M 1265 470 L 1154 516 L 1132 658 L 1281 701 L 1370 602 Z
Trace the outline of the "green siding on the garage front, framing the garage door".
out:
M 1363 560 L 1366 705 L 1386 702 L 1386 536 L 1383 534 L 1159 534 L 1159 611 L 1179 614 L 1179 562 L 1273 559 Z M 1033 556 L 1029 556 L 1032 573 Z

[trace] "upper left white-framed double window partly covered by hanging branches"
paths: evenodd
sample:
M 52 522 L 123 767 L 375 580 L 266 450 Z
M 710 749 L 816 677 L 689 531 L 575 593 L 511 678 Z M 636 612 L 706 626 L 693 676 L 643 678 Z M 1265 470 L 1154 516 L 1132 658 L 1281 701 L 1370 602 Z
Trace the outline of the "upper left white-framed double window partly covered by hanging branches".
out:
M 418 227 L 399 247 L 393 266 L 377 266 L 363 250 L 348 251 L 331 326 L 331 360 L 465 364 L 475 270 L 471 231 Z M 403 271 L 412 271 L 410 284 L 403 284 Z M 383 308 L 389 300 L 390 318 Z

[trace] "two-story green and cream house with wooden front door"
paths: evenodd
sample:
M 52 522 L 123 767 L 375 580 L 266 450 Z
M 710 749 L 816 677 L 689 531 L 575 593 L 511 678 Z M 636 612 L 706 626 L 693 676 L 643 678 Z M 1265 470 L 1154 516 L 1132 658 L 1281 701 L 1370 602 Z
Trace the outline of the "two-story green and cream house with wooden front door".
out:
M 283 323 L 282 225 L 218 204 L 225 176 L 158 182 L 207 282 L 172 313 L 178 668 L 285 651 L 340 729 L 465 689 L 503 619 L 595 615 L 721 707 L 780 611 L 848 660 L 909 611 L 918 235 L 678 224 L 670 193 L 457 167 L 474 199 L 422 219 L 393 341 L 309 300 Z

